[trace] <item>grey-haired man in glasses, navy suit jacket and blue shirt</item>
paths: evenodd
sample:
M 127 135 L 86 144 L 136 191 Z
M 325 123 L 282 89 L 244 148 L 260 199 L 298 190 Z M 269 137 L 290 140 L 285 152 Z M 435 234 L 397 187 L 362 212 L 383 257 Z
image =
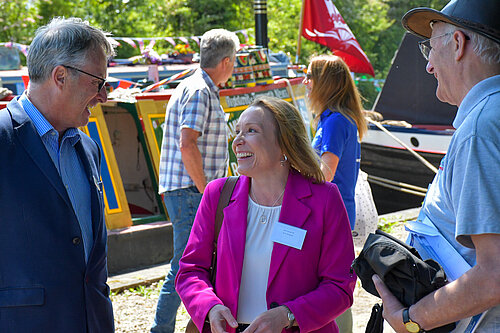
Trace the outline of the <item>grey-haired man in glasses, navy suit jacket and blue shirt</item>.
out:
M 113 332 L 99 146 L 82 131 L 113 47 L 80 19 L 37 31 L 0 111 L 0 332 Z

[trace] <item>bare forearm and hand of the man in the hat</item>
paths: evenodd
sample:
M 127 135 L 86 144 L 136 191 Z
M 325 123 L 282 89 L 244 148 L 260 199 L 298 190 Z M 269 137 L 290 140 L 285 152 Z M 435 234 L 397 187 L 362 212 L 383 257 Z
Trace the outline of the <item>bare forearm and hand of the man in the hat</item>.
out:
M 410 307 L 410 319 L 422 329 L 456 322 L 500 304 L 500 235 L 471 235 L 471 239 L 476 265 Z M 373 282 L 384 303 L 384 318 L 396 332 L 407 332 L 402 318 L 404 306 L 378 276 L 373 276 Z

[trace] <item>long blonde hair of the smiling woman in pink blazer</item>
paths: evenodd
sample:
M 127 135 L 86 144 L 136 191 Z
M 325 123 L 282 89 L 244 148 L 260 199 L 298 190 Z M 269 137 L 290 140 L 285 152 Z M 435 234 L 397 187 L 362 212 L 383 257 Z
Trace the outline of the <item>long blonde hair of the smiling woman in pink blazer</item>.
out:
M 319 156 L 311 146 L 299 110 L 287 101 L 270 96 L 259 97 L 250 106 L 258 106 L 271 112 L 275 120 L 278 144 L 290 166 L 306 178 L 312 178 L 315 183 L 324 182 Z

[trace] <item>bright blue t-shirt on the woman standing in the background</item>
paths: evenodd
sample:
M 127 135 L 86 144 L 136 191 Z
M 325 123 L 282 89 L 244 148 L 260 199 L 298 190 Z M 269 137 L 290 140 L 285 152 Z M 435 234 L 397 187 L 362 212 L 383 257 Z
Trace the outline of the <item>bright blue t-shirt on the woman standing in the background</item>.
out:
M 312 145 L 319 156 L 330 152 L 339 158 L 332 182 L 339 188 L 349 216 L 351 229 L 354 229 L 356 221 L 354 190 L 361 160 L 358 127 L 351 118 L 345 117 L 340 112 L 332 112 L 327 109 L 320 116 Z

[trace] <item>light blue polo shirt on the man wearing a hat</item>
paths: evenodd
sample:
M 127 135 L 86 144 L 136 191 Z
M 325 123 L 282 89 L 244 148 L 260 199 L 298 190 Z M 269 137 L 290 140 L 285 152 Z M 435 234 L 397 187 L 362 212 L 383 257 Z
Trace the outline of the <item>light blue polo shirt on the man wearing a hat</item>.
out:
M 458 108 L 455 133 L 424 207 L 466 261 L 476 263 L 470 235 L 500 234 L 500 75 L 476 84 Z

